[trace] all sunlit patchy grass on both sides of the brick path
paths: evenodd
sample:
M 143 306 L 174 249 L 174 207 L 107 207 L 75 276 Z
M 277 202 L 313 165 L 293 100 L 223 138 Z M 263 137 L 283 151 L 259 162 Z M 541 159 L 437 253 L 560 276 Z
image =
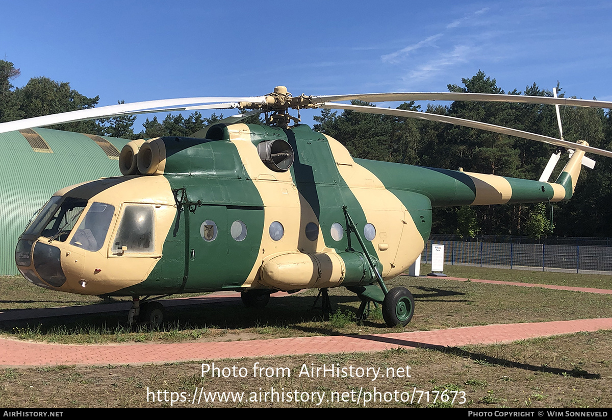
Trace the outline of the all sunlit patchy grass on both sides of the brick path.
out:
M 424 268 L 422 272 L 427 272 Z M 491 270 L 463 266 L 445 269 L 449 276 L 511 282 L 548 283 L 577 287 L 612 288 L 609 276 L 553 272 Z M 595 283 L 595 282 L 599 283 Z M 521 288 L 433 278 L 398 277 L 389 287 L 403 285 L 415 298 L 415 315 L 405 329 L 453 328 L 491 323 L 570 320 L 610 316 L 612 296 L 573 291 Z M 23 279 L 0 282 L 2 309 L 64 306 L 102 302 L 88 296 L 73 296 L 29 285 Z M 321 310 L 313 310 L 316 291 L 271 299 L 263 311 L 242 307 L 239 300 L 206 306 L 173 309 L 160 331 L 124 326 L 124 313 L 106 313 L 75 318 L 45 319 L 29 326 L 5 323 L 2 334 L 18 339 L 58 343 L 193 342 L 269 339 L 332 334 L 394 332 L 373 310 L 364 323 L 356 323 L 359 302 L 343 288 L 330 290 L 334 313 L 324 321 Z M 10 299 L 13 299 L 11 301 Z M 70 303 L 72 302 L 72 303 Z M 0 369 L 0 407 L 189 407 L 191 399 L 171 402 L 152 400 L 152 391 L 185 392 L 195 387 L 208 391 L 245 392 L 253 401 L 200 402 L 194 407 L 363 407 L 364 397 L 376 391 L 399 395 L 422 391 L 420 402 L 373 401 L 365 407 L 469 407 L 469 408 L 602 408 L 612 406 L 608 382 L 612 379 L 612 332 L 599 331 L 495 345 L 473 345 L 438 350 L 394 348 L 375 354 L 343 353 L 215 361 L 216 366 L 252 369 L 289 367 L 291 377 L 228 377 L 201 375 L 201 363 L 155 366 Z M 212 361 L 204 361 L 212 363 Z M 411 377 L 307 377 L 303 366 L 350 366 L 367 369 L 411 367 Z M 252 373 L 252 370 L 249 371 Z M 404 370 L 406 372 L 406 370 Z M 337 392 L 345 401 L 262 402 L 259 391 Z M 433 400 L 435 395 L 465 396 Z M 198 391 L 199 392 L 199 391 Z M 351 394 L 352 392 L 352 394 Z M 360 403 L 351 396 L 361 392 Z M 429 394 L 426 394 L 429 392 Z M 369 393 L 369 394 L 368 394 Z M 461 394 L 465 393 L 465 394 Z M 293 394 L 295 395 L 295 394 Z M 305 396 L 306 394 L 304 394 Z M 148 396 L 148 397 L 147 397 Z M 430 399 L 427 401 L 426 397 Z M 147 398 L 149 399 L 147 401 Z

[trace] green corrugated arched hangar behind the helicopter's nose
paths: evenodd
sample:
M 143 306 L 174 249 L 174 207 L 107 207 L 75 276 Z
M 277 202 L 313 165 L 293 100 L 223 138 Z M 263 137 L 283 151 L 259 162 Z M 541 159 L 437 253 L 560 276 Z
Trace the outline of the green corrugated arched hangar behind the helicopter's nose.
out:
M 0 133 L 0 275 L 19 274 L 17 238 L 54 192 L 121 176 L 119 152 L 128 141 L 39 128 Z

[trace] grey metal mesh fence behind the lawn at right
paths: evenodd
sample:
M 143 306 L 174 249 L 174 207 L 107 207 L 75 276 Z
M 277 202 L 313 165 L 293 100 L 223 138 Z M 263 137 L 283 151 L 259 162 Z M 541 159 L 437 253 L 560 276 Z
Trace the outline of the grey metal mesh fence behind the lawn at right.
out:
M 431 244 L 444 245 L 445 265 L 612 274 L 612 247 L 430 240 L 421 263 L 431 263 Z

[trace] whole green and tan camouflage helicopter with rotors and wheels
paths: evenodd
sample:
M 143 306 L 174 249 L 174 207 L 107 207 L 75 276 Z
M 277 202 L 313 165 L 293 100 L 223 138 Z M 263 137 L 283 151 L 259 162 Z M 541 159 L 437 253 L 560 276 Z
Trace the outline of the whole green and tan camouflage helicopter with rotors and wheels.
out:
M 129 322 L 160 324 L 157 299 L 176 293 L 240 291 L 263 307 L 272 291 L 346 287 L 382 304 L 389 326 L 414 313 L 408 289 L 385 280 L 411 266 L 431 230 L 431 208 L 562 201 L 572 197 L 585 152 L 571 143 L 482 122 L 335 101 L 474 100 L 612 108 L 612 102 L 465 93 L 293 97 L 283 86 L 261 97 L 200 97 L 91 108 L 0 124 L 0 132 L 125 114 L 195 109 L 250 110 L 192 137 L 134 140 L 119 157 L 123 176 L 56 192 L 20 236 L 15 261 L 40 287 L 97 296 L 132 296 Z M 327 135 L 299 124 L 299 110 L 333 108 L 428 119 L 570 149 L 539 181 L 353 159 Z M 298 110 L 298 118 L 289 115 Z M 266 113 L 269 126 L 242 124 Z M 289 127 L 291 122 L 293 127 Z M 561 136 L 562 137 L 562 136 Z M 556 156 L 556 158 L 555 158 Z M 590 162 L 590 163 L 589 163 Z M 145 298 L 140 299 L 141 296 Z

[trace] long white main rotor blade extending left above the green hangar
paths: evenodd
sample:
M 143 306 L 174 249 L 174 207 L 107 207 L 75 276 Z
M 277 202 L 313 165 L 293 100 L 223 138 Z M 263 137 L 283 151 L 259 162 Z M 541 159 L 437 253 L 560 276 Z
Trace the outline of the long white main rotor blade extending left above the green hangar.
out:
M 52 126 L 64 122 L 84 121 L 88 119 L 108 118 L 122 115 L 147 114 L 168 111 L 204 110 L 237 108 L 239 102 L 263 102 L 265 97 L 196 97 L 183 99 L 147 100 L 144 102 L 121 103 L 108 107 L 88 108 L 64 112 L 61 114 L 45 115 L 19 121 L 2 122 L 0 133 L 30 129 L 32 127 Z

